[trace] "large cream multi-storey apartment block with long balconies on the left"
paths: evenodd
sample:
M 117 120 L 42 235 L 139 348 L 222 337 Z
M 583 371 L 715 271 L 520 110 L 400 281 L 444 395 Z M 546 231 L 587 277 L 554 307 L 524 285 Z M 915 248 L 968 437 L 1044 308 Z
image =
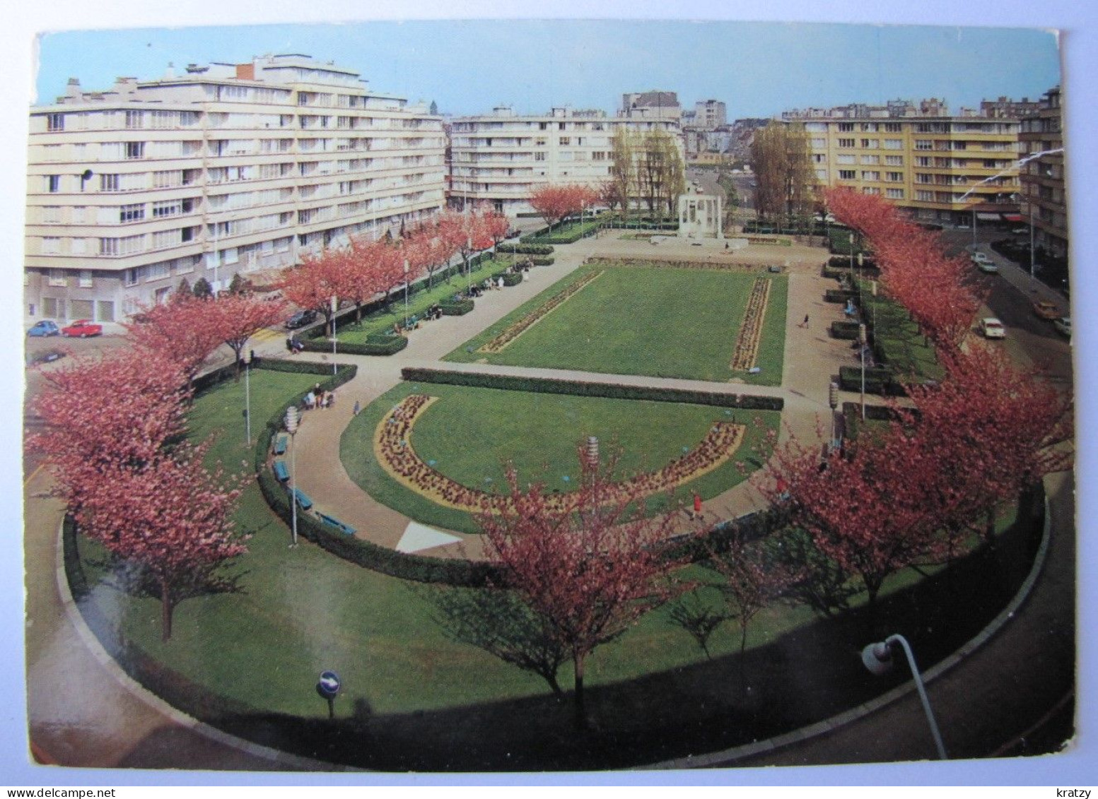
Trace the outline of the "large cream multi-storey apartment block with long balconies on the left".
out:
M 441 120 L 306 55 L 169 67 L 30 120 L 24 312 L 120 322 L 442 206 Z

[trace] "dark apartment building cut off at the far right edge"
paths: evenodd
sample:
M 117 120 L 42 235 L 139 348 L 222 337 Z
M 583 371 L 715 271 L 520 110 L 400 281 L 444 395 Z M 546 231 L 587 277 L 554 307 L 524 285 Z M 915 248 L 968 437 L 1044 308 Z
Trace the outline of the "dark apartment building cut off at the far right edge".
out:
M 1064 134 L 1060 87 L 1045 92 L 1038 110 L 1021 121 L 1022 218 L 1033 226 L 1033 244 L 1067 256 L 1067 199 L 1064 193 Z

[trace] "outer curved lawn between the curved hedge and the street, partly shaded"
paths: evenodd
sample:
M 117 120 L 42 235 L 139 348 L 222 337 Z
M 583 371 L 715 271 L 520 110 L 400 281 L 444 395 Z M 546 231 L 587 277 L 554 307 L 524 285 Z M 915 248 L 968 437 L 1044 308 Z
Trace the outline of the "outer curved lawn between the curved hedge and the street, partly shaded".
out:
M 258 389 L 258 397 L 254 395 L 254 408 L 266 418 L 295 392 L 299 379 L 310 375 L 257 372 L 256 376 L 260 384 L 268 378 L 271 381 Z M 243 384 L 227 383 L 198 397 L 194 434 L 234 429 L 242 391 Z M 235 439 L 235 434 L 228 437 Z M 232 452 L 236 444 L 225 446 Z M 105 619 L 101 634 L 126 641 L 131 651 L 153 659 L 159 685 L 170 685 L 184 710 L 198 712 L 194 702 L 204 704 L 203 719 L 227 724 L 262 743 L 321 756 L 330 751 L 337 759 L 390 769 L 423 764 L 438 770 L 482 763 L 494 768 L 561 767 L 562 763 L 607 767 L 628 765 L 637 756 L 681 755 L 684 734 L 698 740 L 693 751 L 709 751 L 726 745 L 725 734 L 733 735 L 731 743 L 750 740 L 759 724 L 771 731 L 773 723 L 808 723 L 850 706 L 843 702 L 863 701 L 866 689 L 874 690 L 856 663 L 855 644 L 866 634 L 856 620 L 833 630 L 831 622 L 816 622 L 804 607 L 775 604 L 749 629 L 749 651 L 759 651 L 749 669 L 751 684 L 757 686 L 753 696 L 761 695 L 766 702 L 751 710 L 754 721 L 750 721 L 742 716 L 742 700 L 732 687 L 736 661 L 728 657 L 739 646 L 736 624 L 727 623 L 713 635 L 714 661 L 709 663 L 694 641 L 669 622 L 668 609 L 662 608 L 589 659 L 590 708 L 609 738 L 597 733 L 602 736 L 596 739 L 598 746 L 591 754 L 578 755 L 590 747 L 586 739 L 575 738 L 568 706 L 549 699 L 539 677 L 452 641 L 435 621 L 432 598 L 436 588 L 360 569 L 306 541 L 288 549 L 289 531 L 255 486 L 242 497 L 236 518 L 253 533 L 248 553 L 231 567 L 238 589 L 183 600 L 168 643 L 160 641 L 158 600 L 121 592 L 104 571 L 102 551 L 87 540 L 80 541 L 80 552 L 91 594 L 81 607 Z M 692 567 L 681 576 L 703 575 Z M 889 578 L 882 599 L 918 579 L 914 570 Z M 981 596 L 988 593 L 986 579 L 962 579 L 957 585 L 978 585 Z M 716 595 L 710 593 L 709 599 L 716 601 Z M 861 603 L 859 598 L 853 605 Z M 937 618 L 928 617 L 927 607 L 918 601 L 905 612 L 889 620 L 906 630 L 904 619 L 909 616 L 912 633 Z M 943 617 L 950 619 L 943 626 L 946 630 L 962 621 L 953 605 L 937 612 L 952 614 Z M 979 611 L 984 612 L 988 611 Z M 971 615 L 966 612 L 963 620 Z M 807 673 L 791 679 L 780 667 L 787 660 L 782 651 L 763 649 L 780 639 L 786 642 L 784 635 L 797 638 L 789 645 L 798 652 L 805 640 L 829 642 L 827 652 L 813 652 L 817 661 L 810 669 L 816 675 L 811 686 Z M 941 654 L 955 645 L 944 645 Z M 926 651 L 925 643 L 920 652 Z M 929 665 L 929 653 L 925 656 Z M 338 672 L 344 686 L 336 700 L 337 721 L 330 723 L 327 707 L 314 689 L 324 669 Z M 832 682 L 832 672 L 843 669 L 854 675 L 851 685 Z M 570 687 L 567 664 L 559 676 Z M 879 689 L 885 687 L 882 683 Z M 359 727 L 332 727 L 351 717 Z M 300 719 L 316 725 L 302 728 Z M 624 731 L 628 744 L 614 739 L 617 731 Z M 338 753 L 311 749 L 312 735 L 330 741 L 339 734 L 350 739 L 336 747 Z M 657 743 L 638 750 L 638 741 L 646 735 L 654 736 Z M 551 754 L 542 754 L 550 744 L 580 759 L 554 761 Z M 670 754 L 654 754 L 663 753 L 663 746 Z M 488 758 L 483 762 L 477 759 L 482 751 Z M 640 751 L 648 754 L 638 755 Z M 512 759 L 511 753 L 525 759 Z M 423 761 L 415 759 L 421 756 Z M 404 765 L 410 757 L 413 765 Z

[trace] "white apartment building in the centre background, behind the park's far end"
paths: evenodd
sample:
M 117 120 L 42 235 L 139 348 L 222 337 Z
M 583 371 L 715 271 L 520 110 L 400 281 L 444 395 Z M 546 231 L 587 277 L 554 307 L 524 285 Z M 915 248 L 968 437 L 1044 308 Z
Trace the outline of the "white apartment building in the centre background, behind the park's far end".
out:
M 675 120 L 607 116 L 604 111 L 554 108 L 518 115 L 507 105 L 450 126 L 450 202 L 456 207 L 489 202 L 508 216 L 533 213 L 530 195 L 546 183 L 597 187 L 610 179 L 614 135 L 665 131 L 682 142 Z

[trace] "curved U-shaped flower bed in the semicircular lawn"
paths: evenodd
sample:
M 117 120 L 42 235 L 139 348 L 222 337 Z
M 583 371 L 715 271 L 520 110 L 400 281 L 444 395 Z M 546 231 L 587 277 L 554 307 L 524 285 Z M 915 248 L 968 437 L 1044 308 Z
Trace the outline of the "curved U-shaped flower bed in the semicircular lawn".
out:
M 484 514 L 504 507 L 506 497 L 461 485 L 425 463 L 412 447 L 416 418 L 437 397 L 412 394 L 393 407 L 374 430 L 373 453 L 393 480 L 445 507 Z M 675 458 L 656 472 L 647 472 L 613 484 L 606 502 L 635 496 L 651 496 L 671 491 L 717 469 L 727 462 L 743 441 L 743 425 L 715 421 L 697 447 Z M 553 494 L 549 504 L 557 509 L 574 507 L 574 494 Z

